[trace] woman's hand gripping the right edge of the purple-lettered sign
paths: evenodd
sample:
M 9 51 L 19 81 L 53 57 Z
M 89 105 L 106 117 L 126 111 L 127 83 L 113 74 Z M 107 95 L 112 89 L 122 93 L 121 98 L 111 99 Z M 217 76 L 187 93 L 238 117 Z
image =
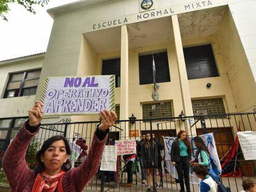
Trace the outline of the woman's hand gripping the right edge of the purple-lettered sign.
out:
M 100 111 L 100 118 L 101 118 L 101 124 L 99 126 L 99 129 L 101 131 L 106 131 L 109 127 L 114 125 L 116 123 L 117 115 L 114 111 Z

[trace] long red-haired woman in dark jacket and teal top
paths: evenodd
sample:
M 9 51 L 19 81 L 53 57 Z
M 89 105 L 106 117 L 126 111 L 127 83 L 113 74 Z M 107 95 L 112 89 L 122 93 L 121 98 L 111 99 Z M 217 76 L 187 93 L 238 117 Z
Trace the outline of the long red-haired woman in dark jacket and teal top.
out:
M 184 180 L 186 189 L 190 192 L 189 184 L 189 161 L 191 159 L 192 147 L 187 138 L 187 133 L 184 130 L 179 131 L 177 139 L 173 141 L 171 145 L 171 163 L 176 166 L 176 170 L 179 177 L 179 185 L 181 191 L 185 191 Z

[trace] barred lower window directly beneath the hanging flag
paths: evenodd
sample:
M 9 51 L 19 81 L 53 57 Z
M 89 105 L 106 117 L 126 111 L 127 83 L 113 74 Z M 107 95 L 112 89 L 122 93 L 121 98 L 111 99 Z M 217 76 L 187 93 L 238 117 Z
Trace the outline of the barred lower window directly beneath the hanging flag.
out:
M 143 119 L 157 119 L 173 117 L 171 102 L 157 102 L 142 104 Z

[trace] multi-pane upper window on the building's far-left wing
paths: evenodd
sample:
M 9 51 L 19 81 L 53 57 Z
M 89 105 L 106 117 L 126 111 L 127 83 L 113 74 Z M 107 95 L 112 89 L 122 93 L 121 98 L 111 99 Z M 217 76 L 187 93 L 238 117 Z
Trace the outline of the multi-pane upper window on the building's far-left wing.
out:
M 14 98 L 36 94 L 41 69 L 11 73 L 4 98 Z

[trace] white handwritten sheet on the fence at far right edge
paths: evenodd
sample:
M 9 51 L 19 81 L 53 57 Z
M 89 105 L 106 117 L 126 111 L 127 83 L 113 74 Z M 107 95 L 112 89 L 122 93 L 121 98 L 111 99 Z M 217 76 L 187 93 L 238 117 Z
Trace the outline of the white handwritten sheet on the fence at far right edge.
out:
M 239 131 L 237 132 L 242 154 L 245 160 L 256 160 L 256 132 Z

